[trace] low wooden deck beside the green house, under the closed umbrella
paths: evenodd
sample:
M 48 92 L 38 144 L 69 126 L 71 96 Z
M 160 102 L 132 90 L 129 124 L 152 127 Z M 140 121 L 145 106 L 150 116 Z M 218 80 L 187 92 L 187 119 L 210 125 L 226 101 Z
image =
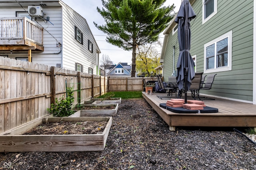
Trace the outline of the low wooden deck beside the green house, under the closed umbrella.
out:
M 150 106 L 169 125 L 170 131 L 174 131 L 176 126 L 253 127 L 256 130 L 256 105 L 216 98 L 203 101 L 206 106 L 217 108 L 218 113 L 173 113 L 160 107 L 160 103 L 166 103 L 170 99 L 159 99 L 157 95 L 165 94 L 149 95 L 142 92 Z M 188 100 L 193 100 L 190 93 Z

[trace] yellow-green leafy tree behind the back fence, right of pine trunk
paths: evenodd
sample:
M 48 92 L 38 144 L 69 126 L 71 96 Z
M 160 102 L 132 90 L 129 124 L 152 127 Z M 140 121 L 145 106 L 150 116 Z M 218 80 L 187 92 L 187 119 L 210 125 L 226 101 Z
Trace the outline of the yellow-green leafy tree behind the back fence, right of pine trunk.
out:
M 142 45 L 138 47 L 138 53 L 136 55 L 136 72 L 140 76 L 142 73 L 146 77 L 154 76 L 156 74 L 156 68 L 160 65 L 160 53 L 157 49 L 152 48 L 150 45 Z

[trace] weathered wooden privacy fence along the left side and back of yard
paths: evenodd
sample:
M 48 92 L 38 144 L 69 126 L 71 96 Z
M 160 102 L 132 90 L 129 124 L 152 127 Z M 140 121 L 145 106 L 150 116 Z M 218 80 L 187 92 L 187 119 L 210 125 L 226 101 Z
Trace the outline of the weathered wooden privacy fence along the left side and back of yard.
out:
M 106 78 L 0 57 L 0 133 L 48 115 L 54 99 L 66 97 L 67 87 L 73 87 L 73 105 L 109 91 L 143 90 L 138 77 Z

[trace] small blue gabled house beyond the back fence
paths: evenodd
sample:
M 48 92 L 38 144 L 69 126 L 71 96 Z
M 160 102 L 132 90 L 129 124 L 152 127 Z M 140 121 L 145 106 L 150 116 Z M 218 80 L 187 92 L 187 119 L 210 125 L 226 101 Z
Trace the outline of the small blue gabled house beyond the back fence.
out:
M 114 77 L 130 77 L 132 70 L 132 66 L 128 65 L 128 63 L 118 63 L 116 65 L 112 65 L 109 70 L 107 70 L 107 76 Z

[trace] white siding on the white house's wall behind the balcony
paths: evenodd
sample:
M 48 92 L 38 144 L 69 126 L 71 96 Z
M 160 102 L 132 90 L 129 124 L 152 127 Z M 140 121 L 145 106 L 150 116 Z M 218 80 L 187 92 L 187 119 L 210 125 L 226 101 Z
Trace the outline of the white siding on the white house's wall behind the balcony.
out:
M 24 7 L 27 9 L 27 7 Z M 0 17 L 16 17 L 16 12 L 23 12 L 24 9 L 19 8 L 0 8 Z M 62 43 L 62 19 L 61 19 L 61 7 L 43 7 L 45 17 L 50 17 L 50 22 L 46 23 L 43 20 L 36 20 L 42 27 L 44 27 L 44 51 L 33 52 L 32 51 L 32 62 L 46 64 L 49 66 L 56 66 L 57 63 L 61 63 L 61 48 L 56 47 L 56 39 Z M 35 23 L 37 23 L 34 21 Z M 49 34 L 47 31 L 51 34 Z M 55 39 L 56 38 L 56 39 Z M 5 55 L 5 54 L 2 54 Z M 28 57 L 28 52 L 23 53 L 6 53 L 9 58 L 16 59 L 16 57 Z

